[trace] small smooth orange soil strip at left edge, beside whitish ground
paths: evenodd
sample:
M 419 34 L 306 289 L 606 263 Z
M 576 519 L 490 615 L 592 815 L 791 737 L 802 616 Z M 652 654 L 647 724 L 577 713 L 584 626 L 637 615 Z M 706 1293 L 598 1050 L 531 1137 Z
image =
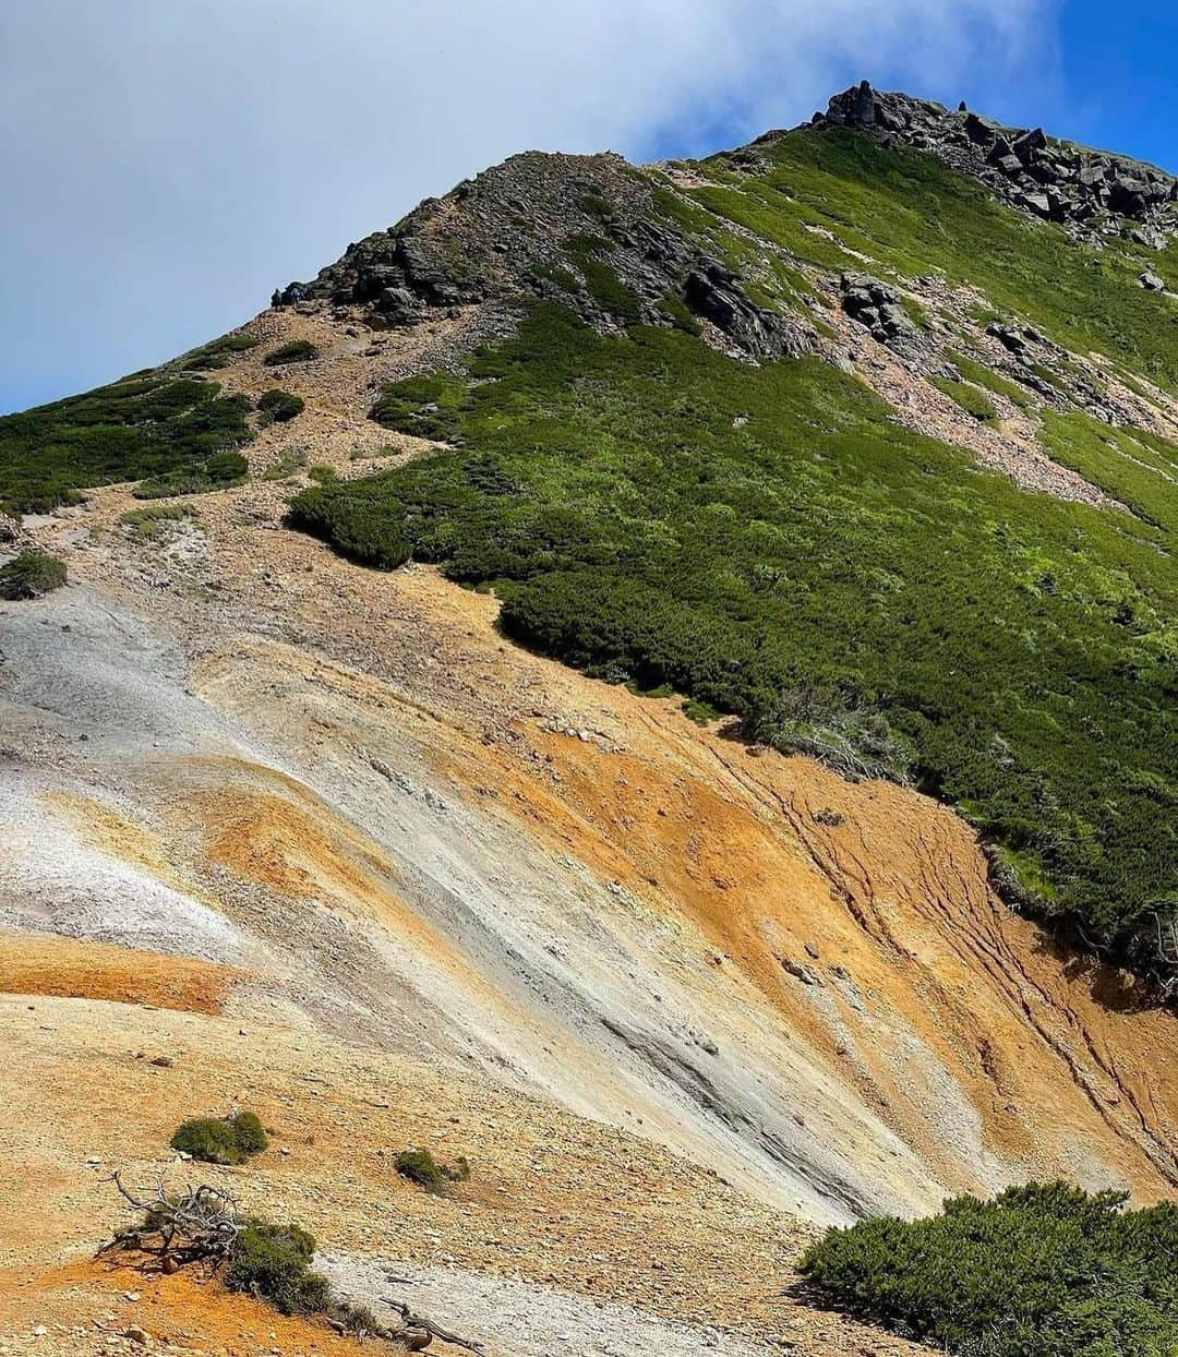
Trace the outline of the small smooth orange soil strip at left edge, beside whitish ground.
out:
M 106 999 L 194 1014 L 221 1012 L 247 972 L 71 938 L 0 935 L 0 993 Z

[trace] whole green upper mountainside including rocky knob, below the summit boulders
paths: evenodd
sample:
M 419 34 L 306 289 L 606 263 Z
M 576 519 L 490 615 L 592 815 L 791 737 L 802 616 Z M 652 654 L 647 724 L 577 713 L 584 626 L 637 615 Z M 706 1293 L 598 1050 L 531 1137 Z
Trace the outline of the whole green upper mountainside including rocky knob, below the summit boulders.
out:
M 970 118 L 942 122 L 974 145 Z M 1010 898 L 1168 989 L 1173 182 L 1140 205 L 1155 250 L 1121 190 L 1079 232 L 923 140 L 818 119 L 699 164 L 518 157 L 352 247 L 276 300 L 403 324 L 494 299 L 510 332 L 379 392 L 373 419 L 445 451 L 292 521 L 494 588 L 512 636 L 608 681 L 911 779 L 978 826 Z M 1090 494 L 901 427 L 839 370 L 824 284 L 978 422 L 1000 395 Z

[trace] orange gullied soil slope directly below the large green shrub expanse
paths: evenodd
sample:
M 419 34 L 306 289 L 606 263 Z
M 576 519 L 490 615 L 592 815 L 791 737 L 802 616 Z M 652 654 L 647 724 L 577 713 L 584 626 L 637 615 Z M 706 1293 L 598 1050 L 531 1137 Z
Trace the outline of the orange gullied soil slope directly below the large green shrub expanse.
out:
M 470 626 L 486 613 L 483 600 L 448 594 L 440 617 L 464 609 Z M 490 651 L 494 632 L 478 620 Z M 962 1177 L 951 1133 L 922 1106 L 926 1071 L 909 1064 L 896 1033 L 915 1033 L 934 1053 L 980 1118 L 987 1148 L 1008 1163 L 1083 1177 L 1103 1162 L 1145 1200 L 1173 1194 L 1178 1023 L 1141 1004 L 1128 977 L 1069 959 L 1007 911 L 957 816 L 890 784 L 846 783 L 808 760 L 752 757 L 694 727 L 676 703 L 554 674 L 529 655 L 495 660 L 540 670 L 550 691 L 608 712 L 624 750 L 517 722 L 512 744 L 479 748 L 476 759 L 438 749 L 437 765 L 546 847 L 664 913 L 687 915 L 704 947 L 734 962 L 784 1027 L 805 1033 L 945 1182 L 976 1186 Z M 820 810 L 843 822 L 821 824 Z M 852 1053 L 844 1029 L 832 1029 L 783 962 L 824 974 L 843 968 L 866 1004 L 856 1016 L 826 977 L 846 1025 L 862 1035 Z

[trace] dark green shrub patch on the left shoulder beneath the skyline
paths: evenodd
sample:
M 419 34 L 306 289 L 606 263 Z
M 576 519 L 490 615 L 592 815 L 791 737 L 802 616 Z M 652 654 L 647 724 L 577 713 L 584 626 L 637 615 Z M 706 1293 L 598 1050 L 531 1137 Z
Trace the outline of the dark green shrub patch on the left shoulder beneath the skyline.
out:
M 87 486 L 191 468 L 250 441 L 250 403 L 151 373 L 0 418 L 0 510 L 43 512 Z

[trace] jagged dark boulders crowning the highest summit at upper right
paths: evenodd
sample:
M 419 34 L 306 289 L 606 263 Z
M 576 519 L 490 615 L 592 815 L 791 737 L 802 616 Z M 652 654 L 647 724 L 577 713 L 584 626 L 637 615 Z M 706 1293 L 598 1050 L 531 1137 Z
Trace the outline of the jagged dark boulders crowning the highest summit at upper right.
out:
M 1141 225 L 1140 244 L 1160 248 L 1178 235 L 1178 180 L 1154 166 L 1049 138 L 1042 128 L 1007 128 L 991 118 L 905 94 L 884 94 L 864 80 L 816 113 L 816 126 L 858 128 L 931 151 L 980 179 L 999 198 L 1078 235 L 1113 233 L 1121 218 Z

